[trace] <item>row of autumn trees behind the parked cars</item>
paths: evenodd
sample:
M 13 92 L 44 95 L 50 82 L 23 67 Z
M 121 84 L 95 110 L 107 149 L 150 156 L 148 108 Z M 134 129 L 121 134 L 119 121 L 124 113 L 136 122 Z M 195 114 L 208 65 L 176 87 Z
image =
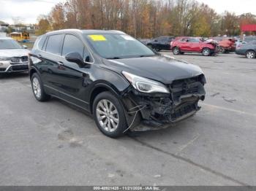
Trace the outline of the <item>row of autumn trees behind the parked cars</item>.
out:
M 120 30 L 136 38 L 155 36 L 234 36 L 251 13 L 219 15 L 195 0 L 67 0 L 38 18 L 37 34 L 63 28 Z

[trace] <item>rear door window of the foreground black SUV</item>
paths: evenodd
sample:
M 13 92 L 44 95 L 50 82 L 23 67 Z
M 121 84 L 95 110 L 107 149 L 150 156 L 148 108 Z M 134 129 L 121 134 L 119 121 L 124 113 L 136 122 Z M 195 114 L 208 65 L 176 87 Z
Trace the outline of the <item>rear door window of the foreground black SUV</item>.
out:
M 61 43 L 63 34 L 49 36 L 45 51 L 54 55 L 61 55 Z

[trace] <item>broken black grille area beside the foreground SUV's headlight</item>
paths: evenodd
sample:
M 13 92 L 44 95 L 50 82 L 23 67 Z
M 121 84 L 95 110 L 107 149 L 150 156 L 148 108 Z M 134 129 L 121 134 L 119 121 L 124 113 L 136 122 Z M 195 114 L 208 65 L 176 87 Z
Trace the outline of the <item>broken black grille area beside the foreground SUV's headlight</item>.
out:
M 182 95 L 200 94 L 203 90 L 200 76 L 174 80 L 170 85 L 170 92 L 174 102 L 180 101 Z

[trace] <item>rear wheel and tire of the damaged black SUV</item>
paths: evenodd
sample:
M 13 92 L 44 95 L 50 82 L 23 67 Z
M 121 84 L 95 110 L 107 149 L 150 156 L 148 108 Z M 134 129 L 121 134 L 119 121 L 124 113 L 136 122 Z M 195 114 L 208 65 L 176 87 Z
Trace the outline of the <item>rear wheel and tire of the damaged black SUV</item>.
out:
M 37 73 L 34 73 L 31 77 L 31 86 L 37 101 L 47 101 L 50 98 L 50 95 L 45 93 L 42 80 Z

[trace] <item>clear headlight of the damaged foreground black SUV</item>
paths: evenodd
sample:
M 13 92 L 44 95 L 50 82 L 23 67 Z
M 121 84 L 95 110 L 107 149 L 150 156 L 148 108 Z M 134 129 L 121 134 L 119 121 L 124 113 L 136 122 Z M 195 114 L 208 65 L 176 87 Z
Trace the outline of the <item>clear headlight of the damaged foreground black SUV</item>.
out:
M 134 74 L 130 74 L 127 71 L 122 71 L 124 77 L 135 87 L 136 90 L 139 90 L 143 93 L 170 93 L 170 91 L 160 82 L 156 82 L 151 79 L 144 77 L 138 77 Z

